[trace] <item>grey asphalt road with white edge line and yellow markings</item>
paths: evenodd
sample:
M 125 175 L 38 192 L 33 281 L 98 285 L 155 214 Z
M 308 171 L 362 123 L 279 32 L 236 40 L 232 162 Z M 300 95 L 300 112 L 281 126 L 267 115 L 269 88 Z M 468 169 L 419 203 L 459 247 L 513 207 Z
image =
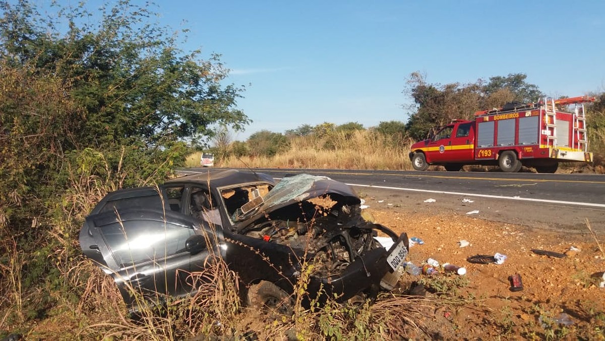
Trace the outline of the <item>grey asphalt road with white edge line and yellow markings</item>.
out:
M 200 171 L 192 168 L 188 171 Z M 203 171 L 203 170 L 202 170 Z M 466 214 L 529 228 L 605 233 L 605 175 L 502 172 L 261 169 L 275 178 L 299 173 L 352 185 L 375 208 Z M 427 203 L 424 200 L 435 199 Z M 384 200 L 378 204 L 379 200 Z M 469 202 L 471 200 L 472 202 Z M 391 205 L 388 205 L 391 204 Z

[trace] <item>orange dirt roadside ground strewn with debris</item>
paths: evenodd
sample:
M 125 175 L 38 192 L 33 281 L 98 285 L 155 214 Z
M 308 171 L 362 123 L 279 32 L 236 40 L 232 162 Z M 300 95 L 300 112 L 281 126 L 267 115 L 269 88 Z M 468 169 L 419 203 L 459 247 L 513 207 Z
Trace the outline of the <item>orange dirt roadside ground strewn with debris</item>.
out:
M 458 288 L 446 289 L 446 294 L 427 293 L 439 302 L 439 307 L 420 321 L 427 329 L 437 329 L 430 338 L 604 339 L 605 288 L 599 285 L 605 271 L 605 253 L 588 228 L 580 233 L 564 233 L 467 215 L 466 211 L 473 210 L 468 202 L 460 202 L 466 206 L 460 210 L 431 212 L 417 209 L 430 205 L 424 201 L 410 205 L 391 199 L 380 194 L 364 196 L 376 222 L 424 241 L 424 245 L 410 248 L 411 262 L 422 266 L 433 258 L 467 270 L 466 279 L 456 282 Z M 596 237 L 603 247 L 603 233 Z M 468 247 L 461 248 L 460 240 L 467 240 Z M 570 251 L 572 247 L 579 251 Z M 532 249 L 566 257 L 540 256 Z M 495 253 L 506 255 L 502 265 L 467 261 L 470 256 Z M 522 291 L 510 290 L 509 276 L 515 273 L 522 277 Z M 457 275 L 438 276 L 448 277 L 442 279 L 452 283 Z M 402 282 L 439 282 L 427 277 L 404 274 Z

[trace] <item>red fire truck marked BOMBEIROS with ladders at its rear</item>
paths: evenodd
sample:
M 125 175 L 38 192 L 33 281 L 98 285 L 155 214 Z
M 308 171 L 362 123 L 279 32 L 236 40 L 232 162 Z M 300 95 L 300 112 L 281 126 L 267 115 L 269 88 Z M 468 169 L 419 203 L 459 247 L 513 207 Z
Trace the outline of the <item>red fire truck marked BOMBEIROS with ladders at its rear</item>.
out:
M 505 172 L 525 166 L 539 173 L 555 173 L 559 162 L 592 162 L 584 103 L 594 101 L 589 96 L 544 98 L 477 111 L 473 120 L 454 120 L 411 145 L 410 161 L 415 170 L 498 165 Z

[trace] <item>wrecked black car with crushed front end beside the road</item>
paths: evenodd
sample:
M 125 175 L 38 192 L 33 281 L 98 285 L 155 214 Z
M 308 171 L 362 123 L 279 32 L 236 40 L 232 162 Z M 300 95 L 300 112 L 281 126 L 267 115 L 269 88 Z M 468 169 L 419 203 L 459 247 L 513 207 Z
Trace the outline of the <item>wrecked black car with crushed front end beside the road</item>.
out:
M 408 238 L 364 219 L 360 204 L 327 177 L 276 184 L 266 174 L 209 170 L 108 194 L 86 218 L 80 247 L 113 276 L 131 310 L 133 290 L 195 293 L 189 276 L 217 258 L 238 275 L 249 304 L 292 296 L 309 269 L 304 304 L 368 299 L 396 285 Z M 378 232 L 393 241 L 389 250 Z

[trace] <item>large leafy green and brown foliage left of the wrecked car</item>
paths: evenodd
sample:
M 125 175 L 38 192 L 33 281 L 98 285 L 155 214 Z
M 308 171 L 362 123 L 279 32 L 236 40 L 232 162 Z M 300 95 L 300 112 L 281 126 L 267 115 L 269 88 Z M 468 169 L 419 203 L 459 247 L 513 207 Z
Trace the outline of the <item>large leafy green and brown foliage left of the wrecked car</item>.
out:
M 11 2 L 0 0 L 0 254 L 11 241 L 30 256 L 22 290 L 35 294 L 65 280 L 83 216 L 107 191 L 165 179 L 186 141 L 249 119 L 218 56 L 181 51 L 149 5 L 41 15 L 36 2 Z M 33 316 L 57 297 L 28 299 Z

